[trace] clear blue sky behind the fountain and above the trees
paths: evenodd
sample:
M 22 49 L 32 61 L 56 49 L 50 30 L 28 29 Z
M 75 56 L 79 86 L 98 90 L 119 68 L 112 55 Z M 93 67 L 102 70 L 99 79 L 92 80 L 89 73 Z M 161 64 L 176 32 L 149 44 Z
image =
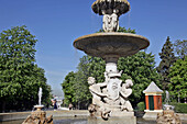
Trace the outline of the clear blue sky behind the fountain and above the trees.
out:
M 102 18 L 95 14 L 95 0 L 0 0 L 0 32 L 26 25 L 38 40 L 36 64 L 45 69 L 47 83 L 62 95 L 65 76 L 75 71 L 85 54 L 73 47 L 82 35 L 101 29 Z M 131 11 L 120 16 L 120 26 L 131 27 L 150 40 L 147 53 L 156 65 L 166 37 L 187 40 L 187 0 L 129 0 Z

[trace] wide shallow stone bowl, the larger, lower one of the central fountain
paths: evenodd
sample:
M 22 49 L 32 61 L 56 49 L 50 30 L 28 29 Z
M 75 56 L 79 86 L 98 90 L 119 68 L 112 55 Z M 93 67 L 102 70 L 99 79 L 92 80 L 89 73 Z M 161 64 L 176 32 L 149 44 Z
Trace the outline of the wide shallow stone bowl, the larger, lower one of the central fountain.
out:
M 150 45 L 147 38 L 130 33 L 95 33 L 81 36 L 74 42 L 77 49 L 95 57 L 125 57 L 134 55 Z

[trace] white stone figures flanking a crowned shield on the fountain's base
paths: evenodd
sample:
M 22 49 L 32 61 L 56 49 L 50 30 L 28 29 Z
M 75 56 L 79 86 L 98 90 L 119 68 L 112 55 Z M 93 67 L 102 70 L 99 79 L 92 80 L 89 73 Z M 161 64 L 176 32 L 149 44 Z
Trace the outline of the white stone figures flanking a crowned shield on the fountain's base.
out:
M 133 86 L 132 80 L 118 79 L 121 76 L 120 72 L 105 72 L 106 81 L 102 83 L 96 83 L 94 77 L 88 78 L 90 84 L 89 90 L 92 94 L 92 104 L 88 110 L 91 115 L 101 116 L 108 120 L 111 114 L 116 112 L 132 112 L 132 105 L 128 100 L 128 97 L 132 93 L 130 87 Z

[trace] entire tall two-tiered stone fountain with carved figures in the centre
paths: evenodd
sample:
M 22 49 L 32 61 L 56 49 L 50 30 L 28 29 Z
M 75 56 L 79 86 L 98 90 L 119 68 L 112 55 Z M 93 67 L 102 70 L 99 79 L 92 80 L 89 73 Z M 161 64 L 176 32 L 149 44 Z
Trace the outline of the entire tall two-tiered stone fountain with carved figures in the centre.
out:
M 101 124 L 136 124 L 136 117 L 128 97 L 132 93 L 132 80 L 122 82 L 122 71 L 118 71 L 119 57 L 136 54 L 150 45 L 147 38 L 130 33 L 119 33 L 119 18 L 130 10 L 128 0 L 97 0 L 92 10 L 103 15 L 103 33 L 95 33 L 78 37 L 74 42 L 77 49 L 106 60 L 105 82 L 96 83 L 94 77 L 88 78 L 92 104 L 88 108 L 90 115 Z M 96 121 L 95 121 L 96 122 Z

